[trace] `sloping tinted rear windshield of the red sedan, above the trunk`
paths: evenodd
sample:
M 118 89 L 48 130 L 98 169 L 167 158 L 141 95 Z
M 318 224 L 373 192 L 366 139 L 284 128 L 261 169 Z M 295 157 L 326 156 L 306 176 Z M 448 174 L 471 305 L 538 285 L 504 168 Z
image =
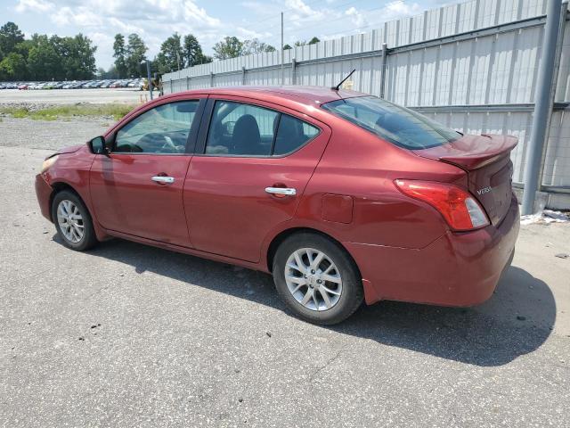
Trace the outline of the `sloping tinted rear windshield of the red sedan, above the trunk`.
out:
M 332 101 L 322 104 L 322 108 L 406 149 L 436 147 L 461 136 L 415 111 L 376 96 Z

